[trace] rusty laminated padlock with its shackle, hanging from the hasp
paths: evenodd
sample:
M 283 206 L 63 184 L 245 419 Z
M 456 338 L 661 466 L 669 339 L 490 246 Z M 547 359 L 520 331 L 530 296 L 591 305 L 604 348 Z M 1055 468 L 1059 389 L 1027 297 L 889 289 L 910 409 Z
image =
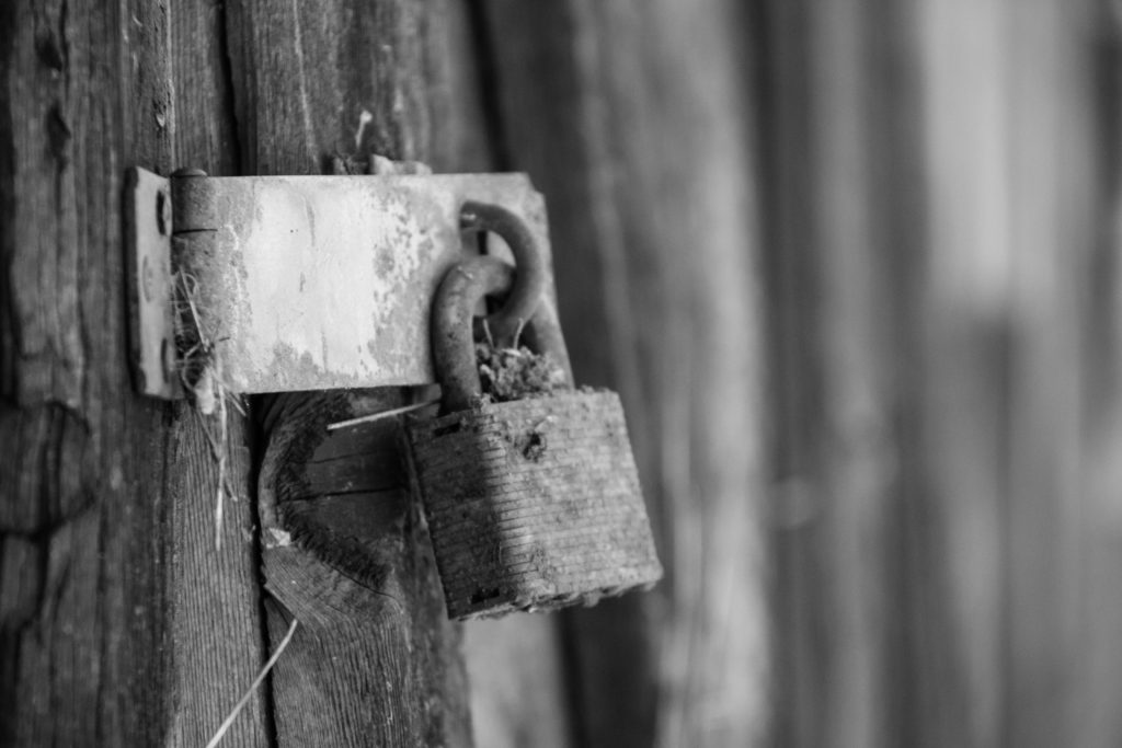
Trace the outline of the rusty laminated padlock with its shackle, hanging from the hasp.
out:
M 472 311 L 514 269 L 453 268 L 433 307 L 442 414 L 407 426 L 411 461 L 449 617 L 592 604 L 662 576 L 619 397 L 571 386 L 555 316 L 523 331 L 563 371 L 562 389 L 490 403 L 480 393 Z

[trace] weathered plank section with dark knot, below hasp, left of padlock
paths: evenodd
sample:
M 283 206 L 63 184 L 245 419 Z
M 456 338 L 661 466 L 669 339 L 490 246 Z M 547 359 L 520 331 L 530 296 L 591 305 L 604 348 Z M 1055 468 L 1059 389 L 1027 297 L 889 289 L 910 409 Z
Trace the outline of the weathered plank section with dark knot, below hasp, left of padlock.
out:
M 273 624 L 300 621 L 274 671 L 277 738 L 297 746 L 468 745 L 459 629 L 444 616 L 404 465 L 386 459 L 399 456 L 397 422 L 325 428 L 371 405 L 396 407 L 402 395 L 356 393 L 273 403 L 282 410 L 273 413 L 259 506 L 274 646 L 287 626 Z M 371 458 L 393 486 L 346 510 L 338 502 L 353 498 L 350 481 L 307 471 L 324 462 L 369 465 Z

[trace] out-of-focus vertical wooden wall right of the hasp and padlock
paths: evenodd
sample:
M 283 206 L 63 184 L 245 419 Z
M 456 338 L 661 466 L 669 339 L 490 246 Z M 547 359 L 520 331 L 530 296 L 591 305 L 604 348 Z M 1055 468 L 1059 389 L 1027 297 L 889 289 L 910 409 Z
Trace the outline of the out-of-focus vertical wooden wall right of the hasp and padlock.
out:
M 1122 744 L 1115 9 L 486 6 L 669 571 L 577 745 Z

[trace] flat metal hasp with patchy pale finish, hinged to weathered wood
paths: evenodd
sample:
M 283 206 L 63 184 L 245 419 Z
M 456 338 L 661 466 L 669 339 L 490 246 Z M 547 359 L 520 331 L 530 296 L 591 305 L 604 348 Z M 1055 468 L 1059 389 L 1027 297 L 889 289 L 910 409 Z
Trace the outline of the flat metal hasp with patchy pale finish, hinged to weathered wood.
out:
M 126 184 L 132 368 L 146 395 L 183 397 L 184 318 L 228 393 L 435 381 L 430 307 L 463 257 L 466 203 L 525 223 L 552 298 L 545 204 L 522 174 L 165 178 L 132 168 Z

